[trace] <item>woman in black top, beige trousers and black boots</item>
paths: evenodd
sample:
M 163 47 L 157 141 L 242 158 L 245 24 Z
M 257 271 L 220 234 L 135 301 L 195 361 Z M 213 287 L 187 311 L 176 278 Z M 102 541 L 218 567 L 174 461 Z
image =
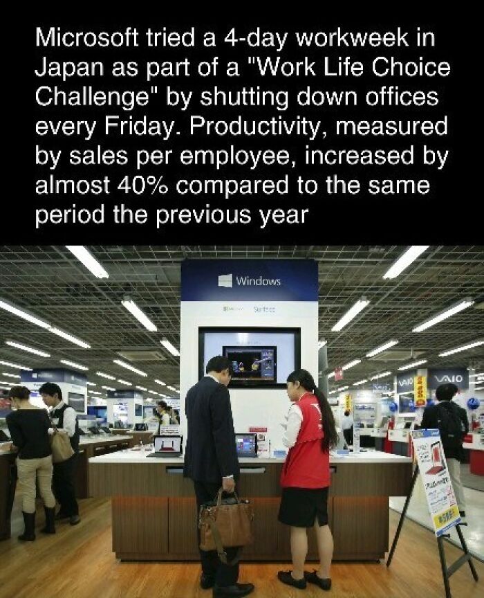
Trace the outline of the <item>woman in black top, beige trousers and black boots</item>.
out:
M 19 488 L 22 492 L 22 514 L 25 531 L 19 540 L 35 540 L 35 480 L 44 499 L 46 513 L 45 534 L 55 534 L 55 498 L 52 491 L 52 453 L 48 438 L 50 419 L 46 410 L 32 405 L 30 390 L 25 386 L 13 386 L 8 392 L 15 411 L 6 417 L 8 430 L 17 456 Z

